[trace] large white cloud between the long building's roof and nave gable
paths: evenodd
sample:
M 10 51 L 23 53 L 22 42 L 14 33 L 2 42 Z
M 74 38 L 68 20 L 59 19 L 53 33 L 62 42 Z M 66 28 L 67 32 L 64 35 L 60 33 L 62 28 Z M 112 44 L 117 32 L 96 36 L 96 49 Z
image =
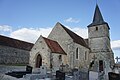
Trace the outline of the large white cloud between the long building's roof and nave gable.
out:
M 21 28 L 11 32 L 10 37 L 35 43 L 40 35 L 47 37 L 51 30 L 52 28 Z

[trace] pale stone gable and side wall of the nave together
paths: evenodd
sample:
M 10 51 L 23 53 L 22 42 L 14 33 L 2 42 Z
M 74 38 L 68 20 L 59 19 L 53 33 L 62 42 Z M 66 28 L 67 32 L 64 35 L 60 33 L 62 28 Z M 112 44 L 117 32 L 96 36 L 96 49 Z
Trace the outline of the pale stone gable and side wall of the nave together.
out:
M 57 41 L 63 50 L 67 53 L 67 57 L 63 59 L 64 64 L 68 64 L 70 68 L 78 68 L 80 66 L 87 68 L 88 58 L 86 60 L 84 58 L 85 53 L 88 57 L 89 49 L 75 43 L 59 23 L 55 25 L 48 38 Z M 77 48 L 79 48 L 79 59 L 75 59 Z

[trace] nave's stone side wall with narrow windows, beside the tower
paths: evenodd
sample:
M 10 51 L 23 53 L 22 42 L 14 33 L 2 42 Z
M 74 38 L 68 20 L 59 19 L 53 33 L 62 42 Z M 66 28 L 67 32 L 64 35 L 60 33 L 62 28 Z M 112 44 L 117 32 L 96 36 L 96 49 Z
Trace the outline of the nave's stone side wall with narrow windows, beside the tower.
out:
M 89 49 L 75 43 L 74 50 L 74 67 L 88 69 L 89 66 Z M 78 59 L 76 59 L 76 49 L 78 48 Z

